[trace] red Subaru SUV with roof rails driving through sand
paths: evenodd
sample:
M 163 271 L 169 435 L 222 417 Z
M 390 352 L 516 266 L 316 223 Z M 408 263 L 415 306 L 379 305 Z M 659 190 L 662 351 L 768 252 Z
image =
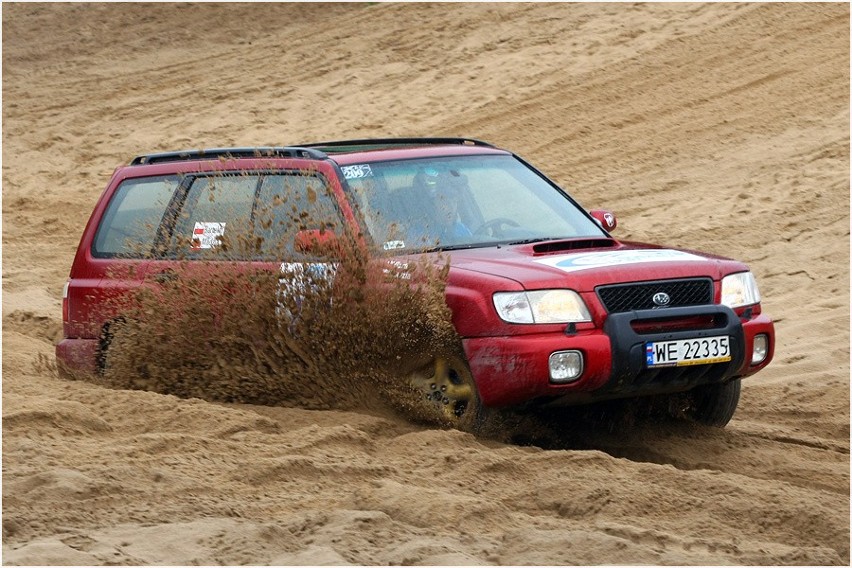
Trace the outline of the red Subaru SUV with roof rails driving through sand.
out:
M 257 222 L 259 208 L 286 220 L 283 230 Z M 310 223 L 296 222 L 300 210 Z M 64 288 L 60 368 L 101 371 L 115 317 L 104 298 L 168 280 L 178 240 L 215 250 L 237 225 L 296 248 L 348 227 L 385 261 L 448 262 L 463 352 L 435 354 L 411 383 L 460 427 L 491 407 L 670 394 L 721 427 L 741 379 L 773 356 L 745 264 L 619 241 L 611 212 L 587 212 L 509 151 L 411 138 L 151 154 L 117 168 Z

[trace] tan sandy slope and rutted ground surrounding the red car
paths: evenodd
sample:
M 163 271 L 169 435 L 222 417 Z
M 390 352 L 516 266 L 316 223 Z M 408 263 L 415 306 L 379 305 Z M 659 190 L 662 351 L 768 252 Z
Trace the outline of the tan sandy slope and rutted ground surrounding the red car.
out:
M 2 12 L 4 564 L 849 564 L 848 4 Z M 508 147 L 623 239 L 748 262 L 778 348 L 728 428 L 544 448 L 57 377 L 116 165 L 404 135 Z

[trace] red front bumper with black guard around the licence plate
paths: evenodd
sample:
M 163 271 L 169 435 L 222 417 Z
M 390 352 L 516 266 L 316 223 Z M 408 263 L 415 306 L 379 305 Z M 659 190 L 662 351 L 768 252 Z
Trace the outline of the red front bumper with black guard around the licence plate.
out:
M 701 320 L 711 322 L 684 329 L 655 322 Z M 766 334 L 766 358 L 751 364 L 754 337 Z M 731 360 L 724 363 L 648 368 L 645 345 L 651 341 L 699 339 L 727 335 Z M 646 396 L 690 390 L 756 373 L 769 364 L 775 348 L 772 321 L 763 315 L 741 319 L 726 306 L 692 306 L 611 314 L 603 330 L 569 335 L 565 332 L 472 337 L 464 340 L 465 353 L 486 406 L 505 406 L 544 398 L 564 404 L 582 404 L 612 398 Z M 577 350 L 583 355 L 583 373 L 568 384 L 550 380 L 551 353 Z

